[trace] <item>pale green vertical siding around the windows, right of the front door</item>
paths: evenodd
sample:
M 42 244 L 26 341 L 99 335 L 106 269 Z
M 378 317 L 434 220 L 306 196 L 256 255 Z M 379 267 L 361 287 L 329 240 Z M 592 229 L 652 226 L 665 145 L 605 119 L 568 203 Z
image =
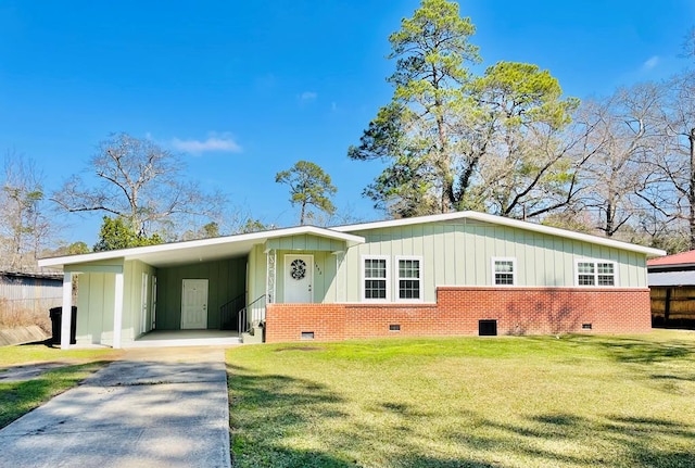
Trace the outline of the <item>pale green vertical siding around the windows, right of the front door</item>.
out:
M 506 226 L 450 222 L 352 233 L 366 242 L 345 255 L 346 302 L 361 301 L 364 255 L 390 257 L 392 288 L 395 257 L 422 257 L 424 301 L 431 303 L 437 301 L 437 286 L 492 286 L 493 257 L 516 258 L 517 286 L 521 287 L 573 287 L 574 262 L 580 258 L 616 262 L 618 287 L 647 287 L 644 254 Z

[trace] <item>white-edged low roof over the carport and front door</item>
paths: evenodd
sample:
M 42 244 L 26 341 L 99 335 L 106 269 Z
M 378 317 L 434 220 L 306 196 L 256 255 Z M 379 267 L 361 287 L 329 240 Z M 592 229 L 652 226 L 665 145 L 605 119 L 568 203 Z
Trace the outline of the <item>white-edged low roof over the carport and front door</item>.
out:
M 299 226 L 292 228 L 274 229 L 212 239 L 199 239 L 185 242 L 172 242 L 157 245 L 118 249 L 105 252 L 93 252 L 81 255 L 67 255 L 39 260 L 39 266 L 65 266 L 88 262 L 110 260 L 139 260 L 155 267 L 180 265 L 191 262 L 210 262 L 214 260 L 241 256 L 251 249 L 268 239 L 312 235 L 327 239 L 344 241 L 348 245 L 364 243 L 365 239 L 346 232 L 338 232 L 315 226 Z

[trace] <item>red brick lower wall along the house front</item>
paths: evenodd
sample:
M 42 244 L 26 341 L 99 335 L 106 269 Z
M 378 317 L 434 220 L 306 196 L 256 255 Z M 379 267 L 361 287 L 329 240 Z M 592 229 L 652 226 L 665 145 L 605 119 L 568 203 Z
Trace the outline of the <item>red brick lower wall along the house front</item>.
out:
M 649 290 L 441 287 L 437 304 L 268 304 L 266 342 L 301 341 L 302 332 L 315 341 L 477 336 L 479 320 L 496 320 L 497 334 L 643 333 L 652 330 Z

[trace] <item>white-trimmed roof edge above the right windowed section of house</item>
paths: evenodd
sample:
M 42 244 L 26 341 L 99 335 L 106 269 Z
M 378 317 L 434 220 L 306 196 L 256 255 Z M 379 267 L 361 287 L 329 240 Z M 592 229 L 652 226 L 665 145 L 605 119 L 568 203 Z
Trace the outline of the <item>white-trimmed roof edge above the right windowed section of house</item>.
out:
M 479 213 L 473 211 L 444 213 L 439 215 L 417 216 L 403 219 L 391 219 L 377 223 L 363 223 L 355 225 L 338 226 L 331 228 L 332 230 L 340 232 L 358 232 L 370 229 L 381 229 L 399 226 L 410 226 L 416 224 L 426 223 L 440 223 L 454 219 L 471 219 L 482 223 L 489 223 L 498 226 L 508 226 L 517 229 L 525 229 L 533 232 L 540 232 L 548 236 L 557 236 L 566 239 L 578 240 L 582 242 L 589 242 L 597 245 L 605 245 L 615 249 L 627 250 L 630 252 L 639 252 L 646 254 L 647 256 L 661 256 L 666 255 L 666 251 L 659 249 L 653 249 L 644 245 L 637 245 L 629 242 L 622 242 L 614 239 L 608 239 L 598 236 L 586 235 L 582 232 L 574 232 L 567 229 L 560 229 L 552 226 L 543 226 L 535 223 L 522 222 L 519 219 L 507 218 L 503 216 L 490 215 L 486 213 Z

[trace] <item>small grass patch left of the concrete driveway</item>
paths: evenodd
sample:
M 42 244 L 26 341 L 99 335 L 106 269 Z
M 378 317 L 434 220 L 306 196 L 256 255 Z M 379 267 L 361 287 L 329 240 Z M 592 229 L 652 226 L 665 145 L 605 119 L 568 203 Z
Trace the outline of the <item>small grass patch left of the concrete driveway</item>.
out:
M 40 376 L 20 382 L 0 380 L 0 428 L 51 397 L 77 385 L 90 374 L 99 370 L 118 355 L 113 350 L 68 350 L 45 345 L 21 345 L 0 347 L 0 377 L 17 366 L 46 363 L 63 363 Z

